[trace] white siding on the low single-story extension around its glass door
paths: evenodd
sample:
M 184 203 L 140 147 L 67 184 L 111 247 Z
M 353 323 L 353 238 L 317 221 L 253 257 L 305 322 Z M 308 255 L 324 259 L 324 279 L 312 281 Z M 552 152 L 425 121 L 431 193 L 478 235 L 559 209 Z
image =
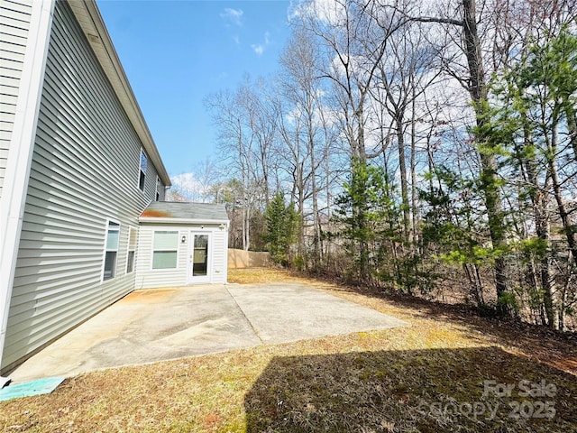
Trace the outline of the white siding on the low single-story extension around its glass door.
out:
M 211 235 L 210 251 L 211 274 L 210 282 L 226 282 L 226 260 L 227 260 L 227 236 L 226 230 L 221 230 L 218 225 L 170 225 L 142 223 L 138 235 L 138 252 L 136 262 L 137 289 L 152 289 L 158 287 L 174 287 L 188 284 L 189 269 L 189 248 L 190 232 L 206 233 Z M 157 230 L 179 232 L 179 239 L 184 235 L 187 241 L 183 244 L 179 242 L 177 256 L 177 269 L 152 269 L 152 242 L 154 232 Z

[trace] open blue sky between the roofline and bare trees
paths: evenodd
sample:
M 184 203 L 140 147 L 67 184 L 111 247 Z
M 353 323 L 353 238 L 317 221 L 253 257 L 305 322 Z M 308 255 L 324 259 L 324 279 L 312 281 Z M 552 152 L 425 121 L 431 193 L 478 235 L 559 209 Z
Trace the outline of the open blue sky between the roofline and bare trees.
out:
M 203 99 L 278 70 L 284 0 L 97 0 L 170 175 L 217 160 Z

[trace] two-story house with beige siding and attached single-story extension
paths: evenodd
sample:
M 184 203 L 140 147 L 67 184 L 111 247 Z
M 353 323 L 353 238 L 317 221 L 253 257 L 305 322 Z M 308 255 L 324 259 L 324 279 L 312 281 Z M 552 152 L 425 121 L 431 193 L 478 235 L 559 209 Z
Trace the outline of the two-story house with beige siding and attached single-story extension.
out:
M 0 370 L 135 287 L 226 281 L 222 206 L 170 180 L 94 0 L 0 3 Z

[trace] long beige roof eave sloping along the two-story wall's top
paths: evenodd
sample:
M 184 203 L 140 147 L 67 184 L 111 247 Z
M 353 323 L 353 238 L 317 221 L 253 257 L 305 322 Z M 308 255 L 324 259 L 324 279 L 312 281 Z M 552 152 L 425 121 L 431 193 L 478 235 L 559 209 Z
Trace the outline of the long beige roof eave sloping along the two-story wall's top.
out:
M 131 88 L 122 64 L 118 59 L 118 55 L 114 50 L 114 44 L 106 30 L 102 15 L 100 11 L 98 11 L 96 1 L 70 1 L 69 5 L 82 31 L 86 35 L 92 51 L 96 54 L 96 59 L 114 88 L 114 92 L 120 100 L 124 112 L 128 116 L 131 124 L 133 124 L 136 134 L 138 134 L 141 139 L 142 147 L 154 164 L 160 180 L 169 187 L 172 185 L 169 174 L 164 166 L 164 162 L 162 162 L 160 158 L 160 153 L 152 139 L 141 108 L 136 101 L 136 97 L 134 97 L 133 88 Z

